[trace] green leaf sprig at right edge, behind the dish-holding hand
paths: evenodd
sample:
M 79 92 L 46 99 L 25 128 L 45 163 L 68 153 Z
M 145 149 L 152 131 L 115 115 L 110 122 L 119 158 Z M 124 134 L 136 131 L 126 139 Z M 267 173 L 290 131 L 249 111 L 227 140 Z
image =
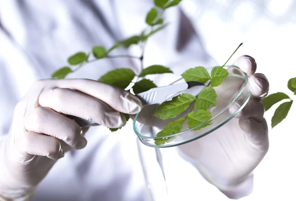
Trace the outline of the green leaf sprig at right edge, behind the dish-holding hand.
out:
M 296 95 L 296 78 L 291 78 L 288 81 L 287 85 L 288 85 L 288 88 L 294 93 L 294 95 Z M 270 94 L 265 98 L 263 98 L 262 100 L 265 112 L 269 110 L 274 104 L 282 100 L 288 100 L 288 101 L 279 105 L 279 107 L 275 110 L 271 118 L 271 128 L 274 128 L 276 125 L 281 123 L 287 117 L 291 109 L 291 106 L 293 104 L 293 100 L 283 92 Z

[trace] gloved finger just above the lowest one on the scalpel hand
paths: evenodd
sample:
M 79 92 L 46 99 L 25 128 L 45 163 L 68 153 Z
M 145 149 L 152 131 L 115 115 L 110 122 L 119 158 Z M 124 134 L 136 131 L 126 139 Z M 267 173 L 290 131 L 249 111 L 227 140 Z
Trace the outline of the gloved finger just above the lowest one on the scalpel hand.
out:
M 24 117 L 27 131 L 53 136 L 74 149 L 82 149 L 87 141 L 82 136 L 80 126 L 72 119 L 49 108 L 37 107 Z

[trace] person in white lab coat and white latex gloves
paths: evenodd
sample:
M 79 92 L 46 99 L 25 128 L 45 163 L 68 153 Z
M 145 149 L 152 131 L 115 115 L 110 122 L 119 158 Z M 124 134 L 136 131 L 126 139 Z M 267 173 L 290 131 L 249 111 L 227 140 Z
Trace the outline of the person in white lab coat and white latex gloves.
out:
M 152 0 L 0 1 L 0 200 L 145 201 L 131 126 L 120 135 L 104 127 L 123 126 L 119 112 L 136 114 L 141 102 L 95 81 L 117 67 L 139 72 L 139 63 L 104 59 L 69 77 L 75 79 L 48 78 L 75 52 L 109 48 L 139 33 L 145 28 L 143 13 L 152 6 Z M 145 53 L 145 66 L 159 63 L 175 73 L 157 77 L 158 86 L 178 79 L 186 68 L 217 65 L 180 7 L 168 10 L 165 20 L 170 26 L 148 41 Z M 180 150 L 208 182 L 238 199 L 252 192 L 252 172 L 268 150 L 260 101 L 268 81 L 255 73 L 253 57 L 239 57 L 234 64 L 250 76 L 252 98 L 232 123 Z M 103 126 L 81 129 L 65 114 Z

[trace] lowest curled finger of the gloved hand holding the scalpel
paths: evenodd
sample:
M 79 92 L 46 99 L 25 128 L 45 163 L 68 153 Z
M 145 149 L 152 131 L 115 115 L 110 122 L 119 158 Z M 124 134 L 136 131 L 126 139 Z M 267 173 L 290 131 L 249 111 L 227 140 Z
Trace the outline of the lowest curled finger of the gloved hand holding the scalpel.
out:
M 21 154 L 46 156 L 53 160 L 65 155 L 57 138 L 31 131 L 19 135 L 15 140 L 15 146 Z

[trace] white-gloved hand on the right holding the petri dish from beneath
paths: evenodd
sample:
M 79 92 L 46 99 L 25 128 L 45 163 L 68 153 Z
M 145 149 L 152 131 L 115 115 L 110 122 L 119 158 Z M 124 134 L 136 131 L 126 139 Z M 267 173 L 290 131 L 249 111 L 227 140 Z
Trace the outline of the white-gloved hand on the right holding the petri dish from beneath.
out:
M 252 172 L 268 150 L 268 129 L 261 97 L 267 95 L 269 84 L 263 74 L 255 73 L 257 64 L 254 58 L 242 56 L 233 65 L 249 75 L 252 97 L 247 105 L 221 128 L 178 147 L 185 160 L 210 183 L 227 197 L 238 199 L 252 192 Z M 237 102 L 229 110 L 237 110 L 240 106 Z M 251 189 L 243 189 L 248 185 Z

